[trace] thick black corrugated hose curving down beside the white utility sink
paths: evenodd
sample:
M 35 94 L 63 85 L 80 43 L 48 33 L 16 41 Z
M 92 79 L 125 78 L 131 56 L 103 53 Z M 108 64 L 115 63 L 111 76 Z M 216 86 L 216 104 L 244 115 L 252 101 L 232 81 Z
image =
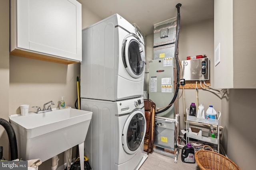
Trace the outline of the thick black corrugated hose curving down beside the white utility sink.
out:
M 2 119 L 2 118 L 0 118 L 0 125 L 4 127 L 8 135 L 8 139 L 10 143 L 11 160 L 18 159 L 16 135 L 12 125 L 6 119 Z

